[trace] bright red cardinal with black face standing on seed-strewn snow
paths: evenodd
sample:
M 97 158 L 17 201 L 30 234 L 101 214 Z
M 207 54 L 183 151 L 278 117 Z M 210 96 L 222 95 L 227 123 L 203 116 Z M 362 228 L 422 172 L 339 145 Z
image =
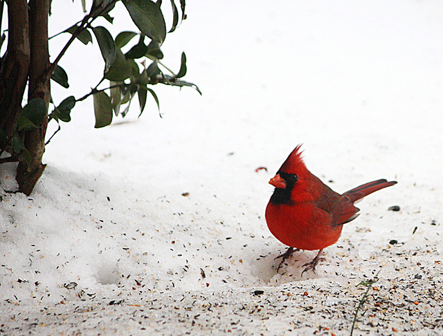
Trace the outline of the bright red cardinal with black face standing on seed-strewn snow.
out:
M 336 243 L 343 224 L 359 216 L 356 200 L 397 183 L 376 180 L 338 194 L 307 170 L 300 146 L 269 181 L 275 189 L 266 207 L 266 223 L 275 238 L 289 245 L 287 252 L 277 257 L 282 257 L 277 272 L 295 250 L 319 250 L 313 261 L 303 265 L 307 267 L 302 274 L 315 272 L 322 250 Z

